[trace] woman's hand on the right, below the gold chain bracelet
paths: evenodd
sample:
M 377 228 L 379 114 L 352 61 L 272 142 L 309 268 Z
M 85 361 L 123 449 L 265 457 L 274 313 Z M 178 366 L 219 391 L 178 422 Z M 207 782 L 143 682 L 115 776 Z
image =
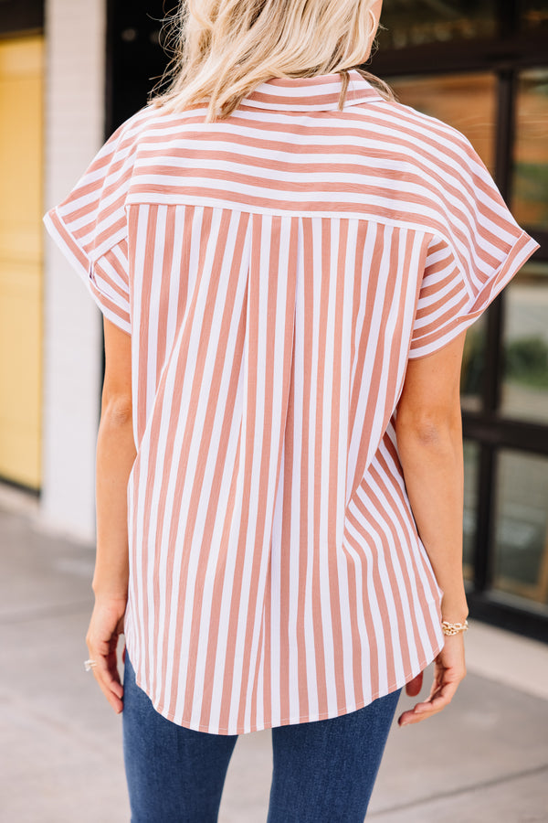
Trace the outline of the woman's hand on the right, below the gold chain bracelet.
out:
M 404 711 L 398 718 L 400 726 L 409 723 L 418 723 L 432 717 L 438 711 L 442 711 L 453 699 L 458 689 L 458 684 L 466 677 L 466 664 L 464 659 L 464 633 L 458 635 L 446 635 L 444 647 L 437 655 L 434 662 L 434 682 L 430 689 L 427 700 L 416 703 L 413 709 Z M 423 683 L 423 672 L 416 678 L 406 683 L 406 694 L 409 697 L 416 697 Z

